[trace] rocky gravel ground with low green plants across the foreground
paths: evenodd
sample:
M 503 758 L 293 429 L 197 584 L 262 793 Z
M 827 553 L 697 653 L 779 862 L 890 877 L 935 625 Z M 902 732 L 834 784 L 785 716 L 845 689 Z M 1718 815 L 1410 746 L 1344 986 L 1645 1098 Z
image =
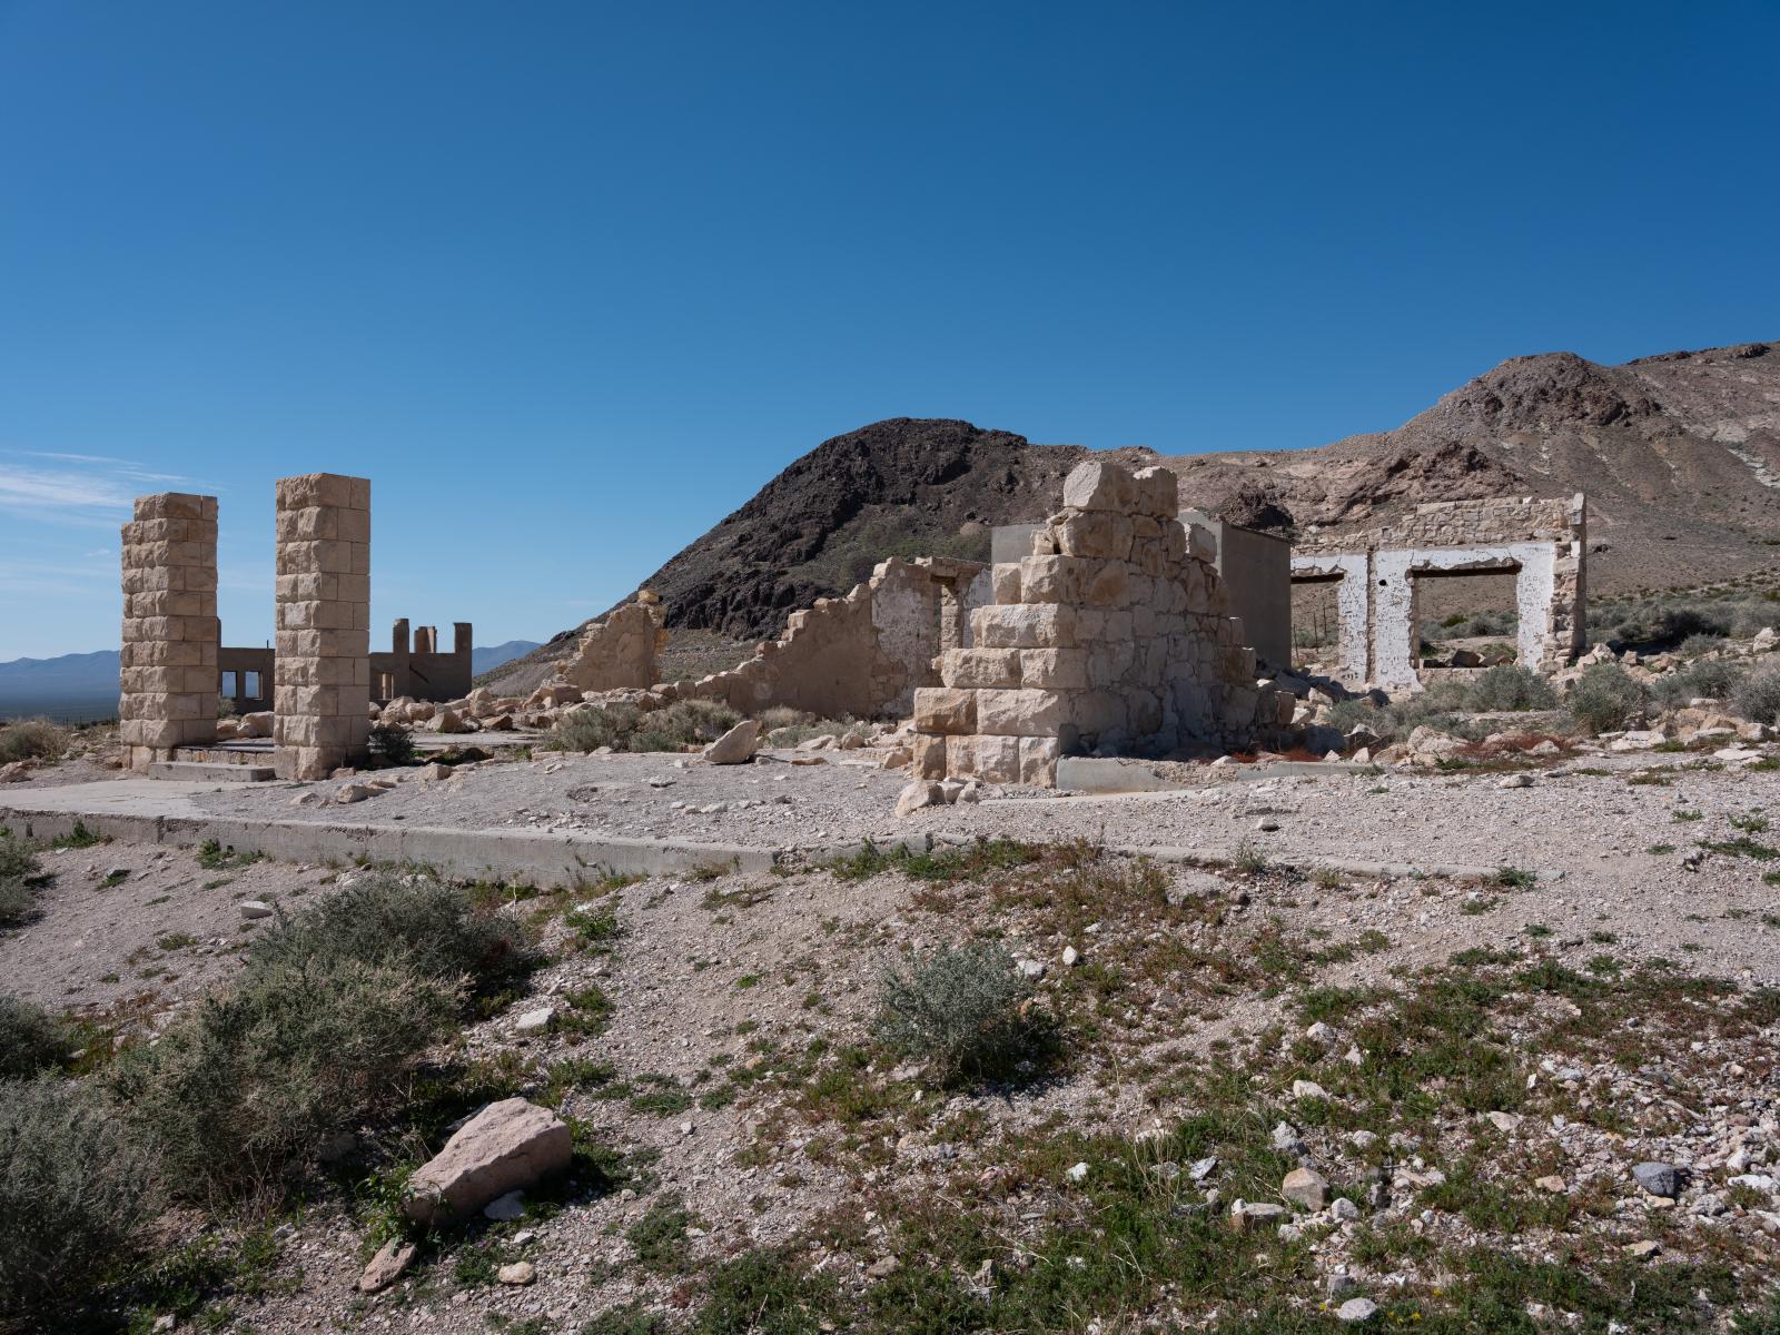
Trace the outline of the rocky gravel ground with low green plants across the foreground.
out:
M 329 1150 L 301 1210 L 169 1216 L 185 1269 L 162 1253 L 114 1312 L 260 1331 L 1759 1330 L 1780 1280 L 1780 765 L 1759 742 L 1623 740 L 1262 781 L 1200 765 L 1178 792 L 991 790 L 902 821 L 901 776 L 858 753 L 488 762 L 349 813 L 328 794 L 363 776 L 214 794 L 279 819 L 805 853 L 771 876 L 466 888 L 539 963 Z M 910 833 L 931 849 L 865 844 Z M 262 931 L 242 901 L 301 915 L 381 874 L 39 856 L 53 881 L 0 938 L 7 990 L 123 1045 L 226 986 Z M 132 977 L 155 933 L 192 942 Z M 883 977 L 970 942 L 1006 951 L 1016 1041 L 951 1070 L 886 1038 Z M 452 1132 L 502 1100 L 570 1129 L 568 1169 L 404 1223 L 409 1173 L 461 1161 Z

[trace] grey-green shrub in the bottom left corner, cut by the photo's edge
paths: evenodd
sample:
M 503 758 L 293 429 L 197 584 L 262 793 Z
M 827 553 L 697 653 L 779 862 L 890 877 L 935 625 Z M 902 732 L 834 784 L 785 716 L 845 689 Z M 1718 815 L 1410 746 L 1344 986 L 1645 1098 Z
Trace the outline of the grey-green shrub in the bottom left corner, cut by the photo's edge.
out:
M 0 1084 L 0 1324 L 89 1292 L 153 1216 L 155 1182 L 148 1153 L 80 1086 Z

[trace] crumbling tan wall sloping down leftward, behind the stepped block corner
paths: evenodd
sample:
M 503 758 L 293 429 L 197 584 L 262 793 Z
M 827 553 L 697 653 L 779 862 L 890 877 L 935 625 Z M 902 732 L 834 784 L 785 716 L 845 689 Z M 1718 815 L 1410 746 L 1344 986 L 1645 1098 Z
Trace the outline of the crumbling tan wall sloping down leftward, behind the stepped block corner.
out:
M 785 634 L 753 659 L 678 684 L 675 694 L 721 700 L 744 714 L 785 705 L 821 717 L 901 717 L 917 687 L 940 680 L 942 646 L 970 643 L 970 612 L 991 595 L 981 562 L 890 559 L 844 598 L 792 612 Z

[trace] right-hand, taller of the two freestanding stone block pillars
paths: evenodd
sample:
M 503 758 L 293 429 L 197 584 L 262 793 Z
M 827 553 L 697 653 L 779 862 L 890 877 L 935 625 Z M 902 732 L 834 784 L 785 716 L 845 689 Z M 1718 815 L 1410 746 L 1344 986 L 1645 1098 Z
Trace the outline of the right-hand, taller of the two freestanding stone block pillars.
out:
M 365 758 L 370 733 L 370 481 L 278 479 L 279 778 Z

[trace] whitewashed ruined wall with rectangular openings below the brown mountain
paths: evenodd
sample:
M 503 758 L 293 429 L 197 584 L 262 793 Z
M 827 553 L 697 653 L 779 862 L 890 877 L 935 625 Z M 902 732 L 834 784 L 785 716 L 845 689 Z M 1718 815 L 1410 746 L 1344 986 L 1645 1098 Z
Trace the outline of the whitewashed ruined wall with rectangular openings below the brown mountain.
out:
M 1413 691 L 1420 687 L 1420 580 L 1513 571 L 1518 662 L 1552 673 L 1584 646 L 1586 554 L 1581 493 L 1566 500 L 1442 500 L 1417 506 L 1360 541 L 1299 539 L 1292 582 L 1339 580 L 1342 682 Z

